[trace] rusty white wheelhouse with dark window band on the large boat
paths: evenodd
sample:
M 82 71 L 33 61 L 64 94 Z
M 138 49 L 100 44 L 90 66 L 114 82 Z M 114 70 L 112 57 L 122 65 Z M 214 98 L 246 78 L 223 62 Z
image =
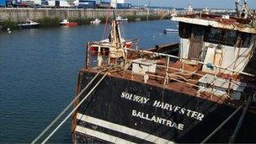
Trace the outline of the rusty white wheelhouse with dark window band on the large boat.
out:
M 190 65 L 204 62 L 203 72 L 215 73 L 212 66 L 243 71 L 256 46 L 256 29 L 248 27 L 246 19 L 194 14 L 172 20 L 179 21 L 181 61 Z

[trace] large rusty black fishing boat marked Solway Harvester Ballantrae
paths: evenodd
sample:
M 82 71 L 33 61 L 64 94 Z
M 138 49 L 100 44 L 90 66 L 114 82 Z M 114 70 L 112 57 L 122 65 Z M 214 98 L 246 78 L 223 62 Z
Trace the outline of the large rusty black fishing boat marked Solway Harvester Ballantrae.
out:
M 112 22 L 111 45 L 88 42 L 78 72 L 73 142 L 255 142 L 256 29 L 250 18 L 173 17 L 178 55 L 125 48 Z M 88 51 L 92 45 L 99 46 L 97 55 Z

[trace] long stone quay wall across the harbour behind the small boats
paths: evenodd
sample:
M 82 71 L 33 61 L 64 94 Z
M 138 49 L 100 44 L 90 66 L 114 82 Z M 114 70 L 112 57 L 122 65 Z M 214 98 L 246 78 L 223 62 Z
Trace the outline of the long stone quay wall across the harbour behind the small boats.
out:
M 76 9 L 76 8 L 0 8 L 0 21 L 10 20 L 16 23 L 24 22 L 26 19 L 95 19 L 112 16 L 114 10 L 108 9 Z M 169 10 L 118 10 L 120 16 L 147 16 L 147 15 L 168 15 Z

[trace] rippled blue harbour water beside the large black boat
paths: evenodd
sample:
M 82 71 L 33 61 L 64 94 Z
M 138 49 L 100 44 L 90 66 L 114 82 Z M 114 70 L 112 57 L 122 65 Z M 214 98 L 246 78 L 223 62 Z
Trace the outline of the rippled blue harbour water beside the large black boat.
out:
M 125 39 L 140 48 L 177 42 L 169 20 L 124 23 Z M 0 143 L 28 143 L 72 101 L 84 44 L 100 40 L 104 24 L 74 28 L 26 29 L 0 33 Z M 106 31 L 107 34 L 109 31 Z M 70 120 L 50 142 L 70 143 Z

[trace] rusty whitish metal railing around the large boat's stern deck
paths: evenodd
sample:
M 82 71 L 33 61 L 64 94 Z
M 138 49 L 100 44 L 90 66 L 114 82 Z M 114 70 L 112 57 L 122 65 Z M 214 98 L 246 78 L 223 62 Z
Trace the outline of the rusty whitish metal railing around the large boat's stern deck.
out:
M 98 45 L 100 45 L 98 43 Z M 102 45 L 105 46 L 105 45 Z M 111 47 L 111 45 L 109 45 L 109 47 Z M 201 87 L 200 85 L 197 85 L 196 83 L 199 82 L 198 79 L 191 79 L 190 77 L 183 77 L 184 75 L 189 75 L 189 76 L 198 76 L 198 77 L 207 77 L 205 75 L 205 73 L 202 72 L 197 72 L 197 71 L 188 71 L 186 70 L 185 67 L 185 62 L 184 61 L 189 61 L 189 62 L 194 62 L 195 64 L 200 64 L 200 65 L 205 65 L 208 66 L 208 63 L 202 62 L 202 61 L 195 61 L 195 60 L 189 60 L 189 59 L 184 59 L 181 58 L 179 56 L 173 56 L 173 55 L 169 55 L 169 54 L 164 54 L 164 53 L 159 53 L 159 52 L 154 52 L 154 51 L 145 51 L 145 50 L 139 50 L 139 49 L 129 49 L 129 48 L 122 48 L 124 50 L 124 57 L 122 57 L 121 61 L 123 61 L 123 63 L 120 65 L 122 65 L 121 67 L 123 67 L 123 70 L 125 72 L 132 72 L 131 68 L 131 64 L 132 61 L 137 59 L 137 58 L 145 58 L 145 59 L 149 59 L 149 60 L 156 60 L 159 59 L 159 57 L 162 58 L 162 62 L 159 62 L 156 64 L 156 69 L 158 69 L 157 72 L 146 72 L 145 74 L 140 74 L 140 73 L 136 73 L 137 75 L 141 75 L 141 77 L 144 77 L 144 82 L 147 83 L 147 79 L 149 77 L 157 77 L 159 79 L 163 79 L 163 84 L 168 84 L 170 80 L 176 81 L 176 82 L 180 82 L 180 83 L 186 83 L 189 84 L 191 86 L 194 87 Z M 129 55 L 131 55 L 131 53 L 133 54 L 138 54 L 136 55 L 136 57 L 131 57 Z M 100 62 L 100 64 L 98 64 L 98 66 L 103 66 L 105 67 L 107 65 L 109 65 L 109 57 L 108 56 L 104 56 L 105 58 L 103 58 L 103 56 L 97 56 L 97 60 L 94 59 L 94 61 L 98 61 Z M 99 57 L 101 57 L 99 59 Z M 173 63 L 175 63 L 176 61 L 180 61 L 181 63 L 181 67 L 172 67 Z M 130 63 L 130 66 L 126 66 L 127 63 Z M 237 71 L 234 70 L 232 68 L 227 68 L 227 67 L 220 67 L 220 66 L 216 66 L 211 64 L 211 67 L 216 68 L 216 71 L 214 71 L 214 75 L 216 77 L 216 79 L 218 79 L 218 81 L 223 81 L 223 85 L 227 84 L 228 87 L 230 88 L 232 84 L 237 84 L 239 83 L 239 80 L 237 80 L 236 78 L 232 78 L 232 77 L 221 77 L 219 78 L 218 73 L 219 71 L 217 70 L 222 70 L 222 72 L 230 72 L 233 75 L 245 75 L 245 76 L 249 76 L 249 77 L 255 77 L 253 74 L 248 73 L 248 72 L 243 72 L 243 71 Z M 176 75 L 177 74 L 177 75 Z M 181 75 L 180 75 L 181 74 Z M 177 78 L 178 77 L 178 78 Z M 189 79 L 189 81 L 188 81 Z M 196 81 L 196 82 L 194 82 Z M 213 85 L 213 83 L 211 83 Z

